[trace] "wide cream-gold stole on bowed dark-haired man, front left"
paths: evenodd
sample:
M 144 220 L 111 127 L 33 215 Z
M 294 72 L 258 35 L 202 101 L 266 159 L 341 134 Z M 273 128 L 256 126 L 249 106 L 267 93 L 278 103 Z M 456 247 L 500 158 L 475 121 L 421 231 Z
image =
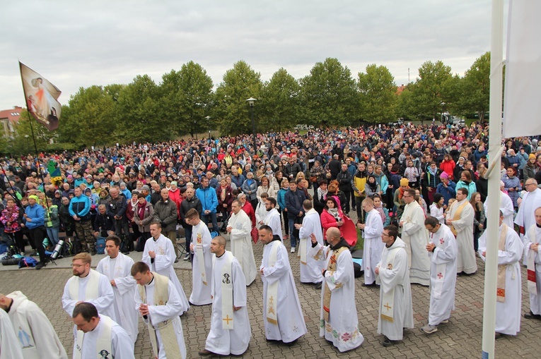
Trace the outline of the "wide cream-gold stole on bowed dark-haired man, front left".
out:
M 169 300 L 169 279 L 166 276 L 162 276 L 156 272 L 152 272 L 154 276 L 154 305 L 166 305 Z M 146 304 L 146 290 L 144 286 L 137 286 L 139 289 L 139 296 L 141 300 Z M 149 320 L 146 323 L 146 327 L 149 329 L 149 334 L 151 336 L 152 351 L 156 358 L 159 356 L 160 346 L 158 345 L 158 339 L 156 337 L 156 331 L 160 331 L 161 341 L 163 343 L 163 348 L 165 353 L 180 353 L 180 348 L 178 347 L 177 337 L 175 335 L 175 329 L 171 325 L 173 320 L 165 320 L 161 322 L 156 327 L 153 327 L 151 321 Z

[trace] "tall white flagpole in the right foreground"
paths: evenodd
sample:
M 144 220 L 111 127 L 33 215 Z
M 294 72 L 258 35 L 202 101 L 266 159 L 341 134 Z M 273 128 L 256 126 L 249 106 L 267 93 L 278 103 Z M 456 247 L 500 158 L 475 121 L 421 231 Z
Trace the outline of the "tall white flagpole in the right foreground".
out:
M 482 358 L 494 357 L 496 328 L 496 274 L 498 269 L 500 164 L 501 164 L 501 97 L 504 59 L 504 0 L 492 0 L 490 43 L 490 121 L 489 158 L 496 163 L 489 172 L 487 196 L 487 261 L 484 267 L 484 305 Z

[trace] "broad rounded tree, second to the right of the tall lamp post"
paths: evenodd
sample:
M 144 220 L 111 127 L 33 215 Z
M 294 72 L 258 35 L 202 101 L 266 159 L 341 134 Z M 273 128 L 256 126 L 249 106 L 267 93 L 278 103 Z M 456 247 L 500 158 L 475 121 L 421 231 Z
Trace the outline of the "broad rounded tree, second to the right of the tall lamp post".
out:
M 314 126 L 348 125 L 357 118 L 359 97 L 349 68 L 325 59 L 301 83 L 301 122 Z

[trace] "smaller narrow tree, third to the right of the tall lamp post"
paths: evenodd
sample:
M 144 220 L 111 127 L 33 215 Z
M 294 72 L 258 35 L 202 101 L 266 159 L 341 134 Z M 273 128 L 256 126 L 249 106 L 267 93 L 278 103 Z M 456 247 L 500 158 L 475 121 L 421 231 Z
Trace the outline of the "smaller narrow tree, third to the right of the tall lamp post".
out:
M 395 118 L 397 87 L 388 68 L 366 66 L 366 73 L 359 73 L 358 86 L 363 120 L 385 123 Z

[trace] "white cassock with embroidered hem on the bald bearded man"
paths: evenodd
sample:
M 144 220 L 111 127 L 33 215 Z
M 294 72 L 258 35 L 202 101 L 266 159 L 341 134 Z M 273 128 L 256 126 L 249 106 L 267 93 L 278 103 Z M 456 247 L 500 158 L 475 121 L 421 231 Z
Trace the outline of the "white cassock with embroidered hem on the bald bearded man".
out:
M 355 305 L 351 252 L 344 238 L 334 248 L 320 243 L 310 248 L 309 255 L 325 258 L 327 269 L 321 286 L 320 336 L 340 352 L 351 351 L 364 341 Z

